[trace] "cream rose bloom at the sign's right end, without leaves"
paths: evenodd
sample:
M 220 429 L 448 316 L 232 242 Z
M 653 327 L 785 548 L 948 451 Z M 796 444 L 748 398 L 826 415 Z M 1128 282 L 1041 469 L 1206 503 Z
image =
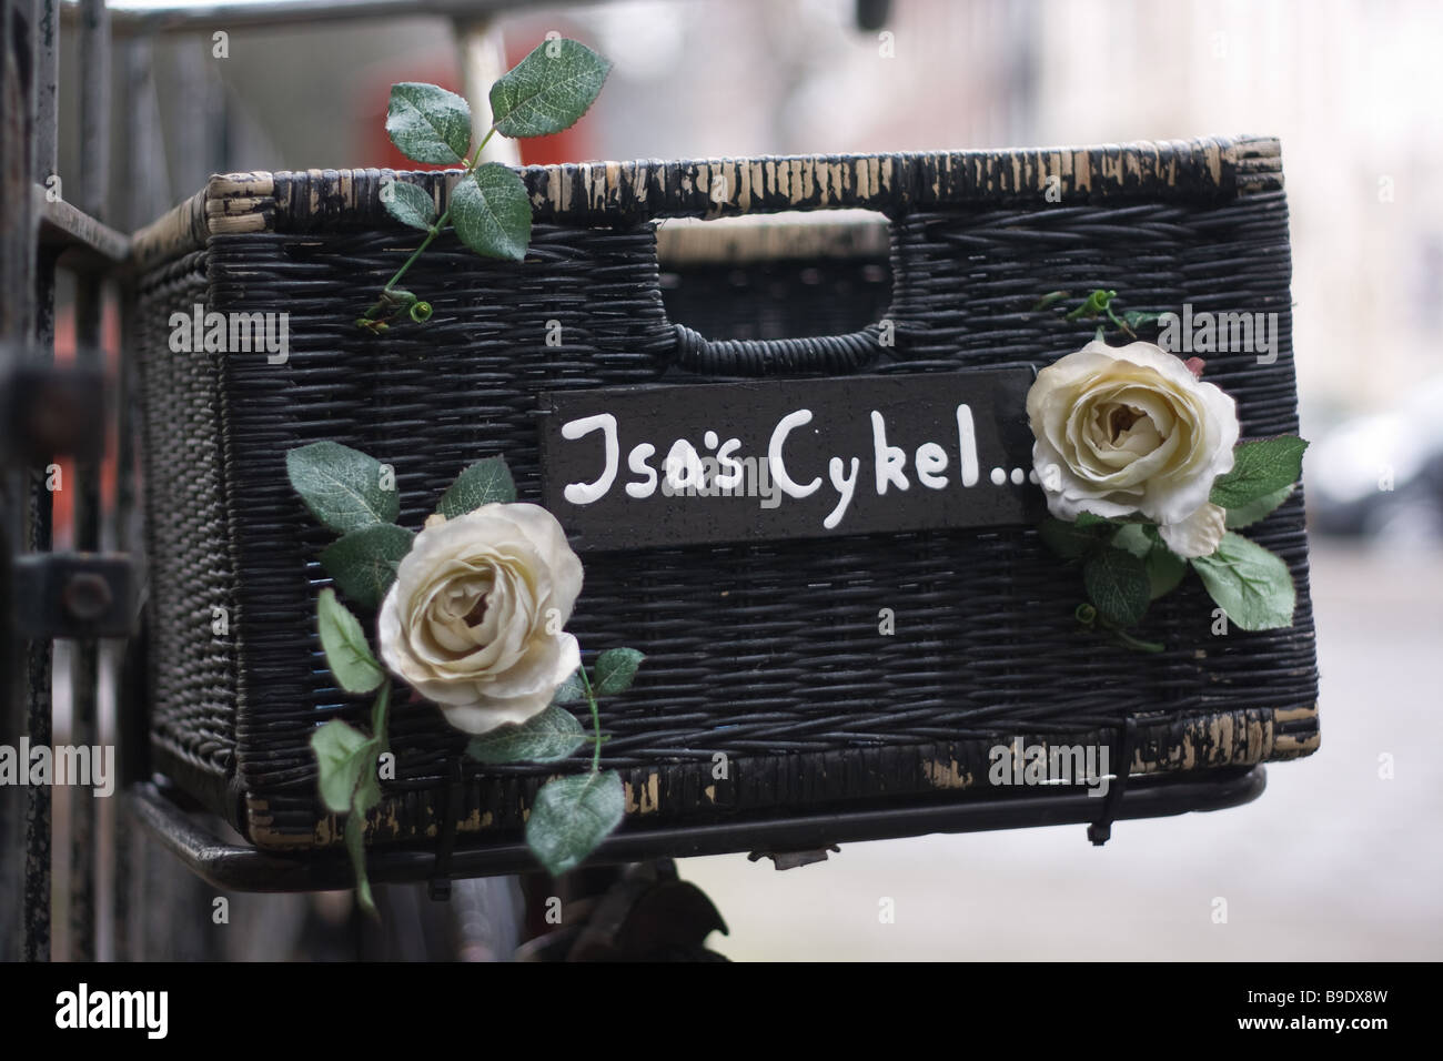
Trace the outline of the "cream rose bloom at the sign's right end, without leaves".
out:
M 1177 556 L 1216 550 L 1224 511 L 1208 495 L 1232 469 L 1238 413 L 1179 358 L 1150 342 L 1089 342 L 1038 372 L 1027 419 L 1055 517 L 1141 512 Z

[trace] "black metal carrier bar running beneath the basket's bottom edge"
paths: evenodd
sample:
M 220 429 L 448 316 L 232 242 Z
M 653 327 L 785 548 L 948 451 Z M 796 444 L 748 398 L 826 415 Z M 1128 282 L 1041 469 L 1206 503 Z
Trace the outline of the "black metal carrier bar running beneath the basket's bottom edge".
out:
M 1205 775 L 1139 777 L 1128 784 L 1117 807 L 1117 820 L 1152 818 L 1212 811 L 1250 803 L 1263 794 L 1263 767 L 1238 767 Z M 351 888 L 351 863 L 343 852 L 323 850 L 280 855 L 219 839 L 172 801 L 153 782 L 133 785 L 128 805 L 137 821 L 203 881 L 241 892 L 306 892 Z M 821 850 L 840 843 L 977 833 L 996 829 L 1085 824 L 1097 818 L 1098 800 L 1087 791 L 1066 790 L 1006 798 L 899 803 L 861 811 L 835 811 L 808 817 L 743 818 L 719 824 L 661 829 L 625 829 L 605 840 L 587 865 L 616 865 L 657 857 L 696 857 L 763 849 L 771 852 Z M 367 869 L 374 882 L 427 881 L 436 876 L 436 853 L 413 847 L 378 847 Z M 457 846 L 446 875 L 509 876 L 540 870 L 535 857 L 518 840 L 488 846 Z

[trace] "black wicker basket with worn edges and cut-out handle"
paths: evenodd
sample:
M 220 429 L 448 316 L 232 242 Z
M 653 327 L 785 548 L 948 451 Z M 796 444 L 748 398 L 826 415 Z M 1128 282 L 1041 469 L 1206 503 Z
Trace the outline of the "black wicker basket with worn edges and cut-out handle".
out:
M 1237 398 L 1245 436 L 1297 429 L 1276 140 L 532 167 L 525 263 L 444 237 L 407 283 L 431 322 L 372 336 L 354 320 L 417 238 L 381 208 L 387 176 L 218 176 L 136 240 L 153 767 L 263 847 L 339 839 L 307 741 L 367 712 L 319 651 L 329 536 L 287 484 L 293 446 L 333 439 L 390 462 L 414 527 L 483 456 L 504 455 L 521 498 L 540 497 L 544 391 L 1043 365 L 1094 325 L 1033 312 L 1039 294 L 1094 287 L 1144 307 L 1276 312 L 1276 364 L 1215 354 L 1208 378 Z M 444 202 L 456 175 L 407 179 Z M 675 253 L 658 263 L 662 218 L 834 208 L 876 211 L 885 228 L 662 227 Z M 170 316 L 193 305 L 286 310 L 289 361 L 173 352 Z M 544 342 L 553 320 L 563 346 Z M 1078 588 L 1030 527 L 587 554 L 570 629 L 589 658 L 620 644 L 648 657 L 603 703 L 623 829 L 967 800 L 986 788 L 988 749 L 1017 736 L 1115 746 L 1126 729 L 1133 774 L 1306 755 L 1317 674 L 1302 492 L 1254 531 L 1291 567 L 1294 625 L 1212 637 L 1190 579 L 1150 612 L 1157 655 L 1076 632 Z M 893 637 L 879 637 L 883 608 Z M 514 840 L 556 772 L 463 762 L 465 735 L 426 704 L 394 712 L 391 743 L 377 843 L 426 842 L 449 831 L 443 816 Z

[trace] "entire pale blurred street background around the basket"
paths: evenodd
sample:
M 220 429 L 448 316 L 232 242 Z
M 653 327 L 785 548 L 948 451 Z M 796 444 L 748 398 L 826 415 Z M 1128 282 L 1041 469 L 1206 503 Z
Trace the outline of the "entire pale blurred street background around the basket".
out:
M 615 62 L 595 114 L 528 144 L 527 162 L 1278 136 L 1315 443 L 1322 751 L 1268 767 L 1253 804 L 1127 821 L 1102 849 L 1066 827 L 854 844 L 785 873 L 745 856 L 683 863 L 732 925 L 717 950 L 1443 957 L 1443 4 L 890 7 L 879 29 L 853 0 L 531 4 L 494 27 L 508 62 L 548 30 Z M 143 224 L 211 169 L 398 166 L 390 84 L 463 84 L 444 19 L 237 29 L 227 43 L 216 59 L 209 33 L 154 39 L 165 165 L 117 182 L 111 217 Z M 62 157 L 62 173 L 82 165 Z

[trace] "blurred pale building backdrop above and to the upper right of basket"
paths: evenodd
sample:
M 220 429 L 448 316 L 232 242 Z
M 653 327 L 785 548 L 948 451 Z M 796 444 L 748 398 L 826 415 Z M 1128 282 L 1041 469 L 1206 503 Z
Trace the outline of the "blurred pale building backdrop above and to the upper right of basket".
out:
M 1304 430 L 1443 372 L 1436 3 L 895 0 L 883 30 L 863 30 L 853 0 L 626 0 L 532 4 L 498 25 L 508 53 L 556 29 L 613 59 L 584 136 L 564 146 L 577 157 L 1277 134 Z M 238 30 L 225 58 L 208 35 L 154 49 L 156 211 L 199 186 L 205 156 L 385 165 L 391 81 L 460 81 L 436 19 Z

